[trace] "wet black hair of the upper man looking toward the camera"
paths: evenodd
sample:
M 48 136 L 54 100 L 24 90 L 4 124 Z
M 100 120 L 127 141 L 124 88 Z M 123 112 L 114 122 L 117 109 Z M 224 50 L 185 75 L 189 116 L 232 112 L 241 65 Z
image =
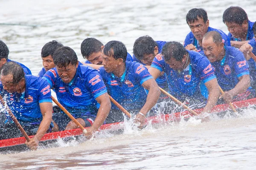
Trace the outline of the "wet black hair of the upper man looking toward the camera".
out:
M 204 23 L 206 23 L 208 20 L 207 12 L 203 8 L 190 9 L 186 15 L 186 23 L 194 23 L 195 21 L 198 21 L 199 18 L 202 18 Z

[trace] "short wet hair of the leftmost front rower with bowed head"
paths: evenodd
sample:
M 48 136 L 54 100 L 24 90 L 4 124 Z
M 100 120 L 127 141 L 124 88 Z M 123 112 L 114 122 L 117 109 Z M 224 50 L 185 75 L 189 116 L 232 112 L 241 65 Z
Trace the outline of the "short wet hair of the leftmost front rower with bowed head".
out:
M 1 75 L 12 75 L 12 83 L 18 84 L 21 79 L 25 78 L 23 68 L 16 62 L 6 62 L 1 68 Z

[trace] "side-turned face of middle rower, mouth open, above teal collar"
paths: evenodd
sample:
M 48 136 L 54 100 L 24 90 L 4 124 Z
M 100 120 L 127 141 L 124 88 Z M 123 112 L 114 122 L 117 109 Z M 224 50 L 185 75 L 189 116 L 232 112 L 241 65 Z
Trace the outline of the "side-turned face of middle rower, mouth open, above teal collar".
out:
M 104 53 L 102 53 L 102 57 L 103 57 L 102 64 L 104 65 L 104 68 L 108 73 L 116 71 L 116 69 L 119 68 L 120 64 L 124 64 L 122 62 L 122 59 L 114 59 L 114 57 L 108 57 Z

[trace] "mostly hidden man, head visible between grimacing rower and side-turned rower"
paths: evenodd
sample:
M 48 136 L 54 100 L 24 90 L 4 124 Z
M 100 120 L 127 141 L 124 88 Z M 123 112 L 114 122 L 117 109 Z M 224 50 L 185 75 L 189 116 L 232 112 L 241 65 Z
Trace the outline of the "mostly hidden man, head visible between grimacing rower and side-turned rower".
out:
M 96 38 L 87 38 L 81 43 L 81 54 L 86 59 L 84 63 L 102 65 L 102 49 L 104 45 Z M 132 61 L 132 57 L 127 53 L 127 61 Z M 92 65 L 89 65 L 92 66 Z

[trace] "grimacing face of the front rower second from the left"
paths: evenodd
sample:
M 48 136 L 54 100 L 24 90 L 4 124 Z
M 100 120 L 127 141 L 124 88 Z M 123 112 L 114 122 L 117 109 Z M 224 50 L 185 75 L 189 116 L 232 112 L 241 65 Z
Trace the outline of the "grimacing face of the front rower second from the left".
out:
M 69 64 L 66 65 L 66 67 L 62 68 L 55 65 L 57 73 L 64 83 L 70 83 L 71 80 L 74 78 L 74 76 L 76 75 L 76 68 L 78 67 L 78 63 L 79 62 L 77 62 L 76 65 Z

